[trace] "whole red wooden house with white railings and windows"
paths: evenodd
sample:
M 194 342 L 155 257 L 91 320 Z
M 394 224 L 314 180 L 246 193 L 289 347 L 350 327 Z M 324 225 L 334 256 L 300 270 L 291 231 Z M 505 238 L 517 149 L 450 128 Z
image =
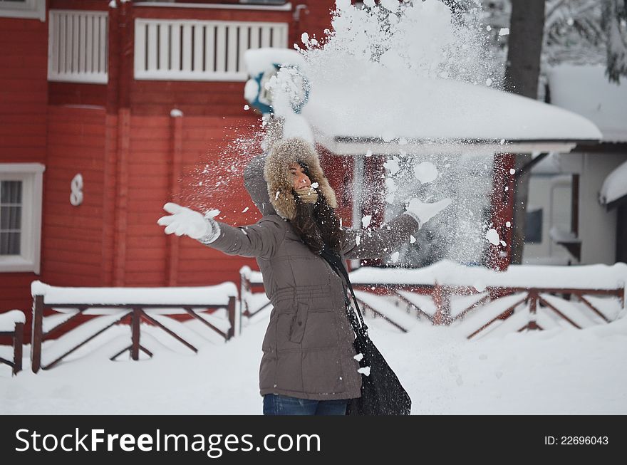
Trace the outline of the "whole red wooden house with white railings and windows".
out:
M 0 312 L 29 313 L 34 280 L 207 286 L 237 283 L 239 268 L 255 268 L 254 260 L 166 236 L 157 218 L 170 200 L 217 207 L 229 224 L 259 218 L 257 209 L 242 209 L 251 202 L 232 168 L 260 150 L 259 115 L 244 109 L 244 51 L 291 48 L 305 31 L 323 36 L 333 5 L 0 2 Z M 361 149 L 336 142 L 338 150 L 321 147 L 323 165 L 351 224 L 354 169 L 346 155 Z M 382 183 L 384 158 L 382 151 L 366 161 L 364 182 Z M 509 167 L 512 156 L 497 164 Z M 509 169 L 495 172 L 492 217 L 504 225 L 511 179 Z M 363 207 L 372 202 L 382 200 Z M 494 265 L 508 259 L 497 253 Z

